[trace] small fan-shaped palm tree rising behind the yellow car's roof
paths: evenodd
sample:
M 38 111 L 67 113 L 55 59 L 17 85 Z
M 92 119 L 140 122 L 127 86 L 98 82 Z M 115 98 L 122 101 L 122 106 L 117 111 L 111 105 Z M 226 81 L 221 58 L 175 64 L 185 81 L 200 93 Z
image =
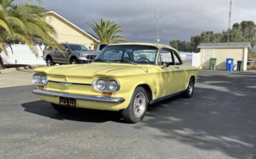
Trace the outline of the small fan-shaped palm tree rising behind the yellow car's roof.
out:
M 100 43 L 115 44 L 127 42 L 125 37 L 122 37 L 122 35 L 119 34 L 119 32 L 122 32 L 122 26 L 118 26 L 118 24 L 115 24 L 112 21 L 98 19 L 92 23 L 89 22 L 86 24 L 93 29 L 100 40 Z

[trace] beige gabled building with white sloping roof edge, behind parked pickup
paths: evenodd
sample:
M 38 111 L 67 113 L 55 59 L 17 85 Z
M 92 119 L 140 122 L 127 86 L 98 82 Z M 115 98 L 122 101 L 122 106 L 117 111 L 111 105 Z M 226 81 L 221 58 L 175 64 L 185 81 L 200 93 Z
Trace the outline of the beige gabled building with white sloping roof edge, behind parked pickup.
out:
M 91 50 L 94 49 L 93 46 L 98 42 L 98 39 L 75 26 L 71 21 L 57 14 L 57 12 L 49 11 L 46 15 L 46 21 L 51 24 L 57 32 L 57 41 L 82 44 Z

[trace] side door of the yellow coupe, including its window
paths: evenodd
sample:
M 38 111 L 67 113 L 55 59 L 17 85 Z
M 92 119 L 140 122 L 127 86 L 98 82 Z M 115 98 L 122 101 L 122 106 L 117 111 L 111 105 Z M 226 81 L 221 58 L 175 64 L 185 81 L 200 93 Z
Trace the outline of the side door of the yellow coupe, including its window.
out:
M 160 75 L 159 75 L 159 85 L 160 85 L 160 95 L 161 97 L 165 95 L 170 95 L 179 90 L 179 86 L 174 81 L 175 68 L 171 65 L 174 64 L 174 59 L 172 56 L 171 50 L 161 49 L 158 59 L 158 66 L 160 66 Z

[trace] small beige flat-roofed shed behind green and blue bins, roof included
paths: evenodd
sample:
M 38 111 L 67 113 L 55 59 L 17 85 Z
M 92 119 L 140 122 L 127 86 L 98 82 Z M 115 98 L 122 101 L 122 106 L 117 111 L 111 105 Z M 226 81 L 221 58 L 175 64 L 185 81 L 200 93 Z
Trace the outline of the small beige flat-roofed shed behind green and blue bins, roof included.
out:
M 249 42 L 232 42 L 232 43 L 201 43 L 199 68 L 210 69 L 210 58 L 217 59 L 216 69 L 226 70 L 226 59 L 234 59 L 234 68 L 237 67 L 237 61 L 241 60 L 242 70 L 247 69 L 248 48 Z

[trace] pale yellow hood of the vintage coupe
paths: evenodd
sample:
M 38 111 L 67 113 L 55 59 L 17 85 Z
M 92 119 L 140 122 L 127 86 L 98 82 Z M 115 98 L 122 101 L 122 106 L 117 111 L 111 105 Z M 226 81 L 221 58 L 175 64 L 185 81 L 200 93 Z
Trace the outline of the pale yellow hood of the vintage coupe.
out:
M 124 76 L 147 73 L 147 68 L 117 64 L 75 64 L 35 68 L 35 73 L 66 77 Z

